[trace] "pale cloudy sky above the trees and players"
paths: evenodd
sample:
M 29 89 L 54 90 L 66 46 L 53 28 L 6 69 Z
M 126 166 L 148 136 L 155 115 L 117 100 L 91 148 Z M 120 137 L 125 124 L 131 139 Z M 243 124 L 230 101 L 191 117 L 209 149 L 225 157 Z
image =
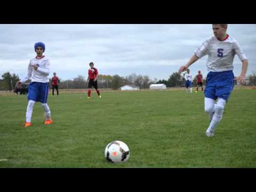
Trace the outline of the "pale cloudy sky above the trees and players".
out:
M 0 78 L 9 71 L 21 79 L 29 60 L 36 56 L 34 44 L 43 42 L 53 72 L 62 80 L 78 75 L 87 78 L 89 63 L 101 75 L 147 75 L 168 79 L 185 65 L 196 48 L 213 35 L 211 24 L 0 24 Z M 227 34 L 235 38 L 249 60 L 247 75 L 256 73 L 256 25 L 230 24 Z M 207 55 L 192 66 L 205 77 Z M 242 62 L 234 59 L 234 74 Z

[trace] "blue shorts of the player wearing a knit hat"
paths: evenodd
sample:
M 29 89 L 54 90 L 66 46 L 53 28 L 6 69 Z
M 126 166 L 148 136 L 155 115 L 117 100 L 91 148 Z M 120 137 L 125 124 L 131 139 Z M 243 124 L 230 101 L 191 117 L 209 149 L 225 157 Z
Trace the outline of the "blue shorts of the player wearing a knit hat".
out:
M 28 101 L 46 103 L 48 97 L 49 83 L 32 82 L 28 86 Z

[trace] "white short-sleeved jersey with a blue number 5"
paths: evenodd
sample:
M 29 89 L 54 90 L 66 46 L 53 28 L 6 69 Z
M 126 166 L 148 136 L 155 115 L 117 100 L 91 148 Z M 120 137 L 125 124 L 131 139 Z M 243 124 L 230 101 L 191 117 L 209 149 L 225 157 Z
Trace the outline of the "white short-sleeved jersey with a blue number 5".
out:
M 235 54 L 238 55 L 241 61 L 247 59 L 238 42 L 228 36 L 223 41 L 220 41 L 215 36 L 211 36 L 199 46 L 195 54 L 198 58 L 209 55 L 207 59 L 207 69 L 213 72 L 221 72 L 233 70 L 233 60 Z

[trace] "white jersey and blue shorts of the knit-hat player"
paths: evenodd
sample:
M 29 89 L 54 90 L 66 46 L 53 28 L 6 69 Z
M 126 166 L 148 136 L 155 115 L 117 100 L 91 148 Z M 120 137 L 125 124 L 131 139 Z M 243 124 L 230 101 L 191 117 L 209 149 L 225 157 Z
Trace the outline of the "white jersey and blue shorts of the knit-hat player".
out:
M 34 65 L 38 68 L 34 69 Z M 28 101 L 46 103 L 49 90 L 50 61 L 45 56 L 42 58 L 33 58 L 29 61 L 28 73 L 21 83 L 25 83 L 31 78 L 31 83 L 28 87 Z

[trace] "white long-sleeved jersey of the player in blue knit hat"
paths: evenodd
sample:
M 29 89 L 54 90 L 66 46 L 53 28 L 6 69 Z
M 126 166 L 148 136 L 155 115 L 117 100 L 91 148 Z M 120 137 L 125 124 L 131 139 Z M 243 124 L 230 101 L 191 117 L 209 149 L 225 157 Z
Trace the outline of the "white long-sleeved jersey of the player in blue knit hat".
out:
M 34 65 L 37 65 L 37 70 L 34 69 Z M 29 61 L 28 74 L 22 79 L 21 83 L 25 83 L 31 78 L 31 82 L 48 83 L 47 77 L 50 73 L 50 61 L 45 56 L 41 59 L 33 58 Z

